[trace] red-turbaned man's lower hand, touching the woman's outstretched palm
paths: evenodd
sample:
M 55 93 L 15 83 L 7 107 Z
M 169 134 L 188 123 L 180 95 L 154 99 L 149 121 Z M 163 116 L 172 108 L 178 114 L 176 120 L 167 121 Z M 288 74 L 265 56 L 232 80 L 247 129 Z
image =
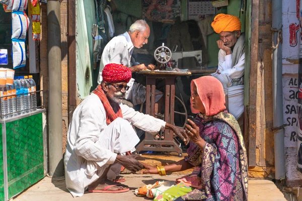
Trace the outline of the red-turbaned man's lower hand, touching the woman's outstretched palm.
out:
M 132 173 L 135 173 L 143 168 L 143 165 L 136 160 L 140 155 L 130 154 L 126 156 L 117 155 L 115 162 L 123 165 L 127 170 L 130 170 Z

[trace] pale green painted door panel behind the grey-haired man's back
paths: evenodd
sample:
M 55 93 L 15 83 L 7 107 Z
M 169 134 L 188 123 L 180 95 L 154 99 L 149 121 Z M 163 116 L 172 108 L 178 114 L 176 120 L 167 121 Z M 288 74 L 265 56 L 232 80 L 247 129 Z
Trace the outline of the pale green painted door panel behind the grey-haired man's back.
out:
M 92 25 L 95 19 L 95 1 L 77 0 L 77 84 L 81 98 L 89 95 L 96 86 L 97 80 L 92 78 L 96 73 L 92 70 Z

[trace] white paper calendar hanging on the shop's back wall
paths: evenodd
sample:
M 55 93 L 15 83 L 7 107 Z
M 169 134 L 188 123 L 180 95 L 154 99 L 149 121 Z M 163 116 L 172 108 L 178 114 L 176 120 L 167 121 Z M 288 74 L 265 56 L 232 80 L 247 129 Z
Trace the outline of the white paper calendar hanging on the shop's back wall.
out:
M 189 0 L 188 20 L 202 20 L 208 15 L 216 15 L 216 8 L 211 0 Z

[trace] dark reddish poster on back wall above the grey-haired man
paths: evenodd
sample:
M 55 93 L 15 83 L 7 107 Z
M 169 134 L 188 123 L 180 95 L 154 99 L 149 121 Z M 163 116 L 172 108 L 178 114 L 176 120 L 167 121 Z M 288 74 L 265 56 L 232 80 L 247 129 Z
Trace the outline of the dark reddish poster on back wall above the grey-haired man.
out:
M 181 14 L 181 0 L 142 0 L 142 16 L 148 21 L 173 22 Z

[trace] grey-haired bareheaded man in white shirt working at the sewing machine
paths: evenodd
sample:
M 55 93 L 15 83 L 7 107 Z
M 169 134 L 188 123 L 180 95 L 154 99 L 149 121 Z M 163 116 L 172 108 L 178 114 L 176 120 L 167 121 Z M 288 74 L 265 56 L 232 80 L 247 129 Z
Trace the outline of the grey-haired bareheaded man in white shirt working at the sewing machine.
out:
M 118 35 L 111 39 L 105 46 L 101 63 L 100 72 L 98 77 L 98 83 L 102 81 L 102 71 L 108 63 L 118 63 L 129 67 L 131 72 L 138 72 L 140 70 L 154 70 L 155 66 L 149 64 L 147 67 L 144 64 L 134 65 L 131 62 L 131 56 L 134 47 L 141 48 L 144 44 L 148 43 L 148 37 L 150 35 L 150 28 L 144 20 L 137 20 L 134 22 L 129 31 L 124 34 Z M 134 59 L 132 58 L 132 61 Z M 134 81 L 133 78 L 127 84 L 130 88 L 126 91 L 125 98 L 135 106 L 145 102 L 146 89 L 145 86 Z M 160 91 L 157 91 L 159 93 Z M 159 102 L 163 95 L 156 96 L 156 102 Z M 162 108 L 159 106 L 159 108 Z

